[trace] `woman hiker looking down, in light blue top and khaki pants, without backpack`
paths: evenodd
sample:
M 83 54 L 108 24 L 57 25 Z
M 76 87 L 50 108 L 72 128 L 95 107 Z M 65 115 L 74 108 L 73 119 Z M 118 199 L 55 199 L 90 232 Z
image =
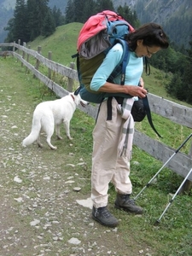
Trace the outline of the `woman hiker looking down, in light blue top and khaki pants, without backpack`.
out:
M 109 50 L 102 65 L 94 74 L 90 89 L 106 93 L 129 94 L 131 98 L 113 97 L 104 100 L 98 112 L 93 131 L 91 172 L 92 218 L 102 225 L 115 227 L 119 224 L 108 210 L 108 184 L 113 183 L 117 192 L 114 207 L 125 212 L 142 214 L 143 208 L 131 199 L 130 160 L 134 120 L 131 107 L 137 97 L 147 94 L 142 79 L 143 57 L 150 58 L 160 49 L 166 49 L 168 39 L 162 27 L 148 23 L 127 35 L 130 59 L 125 71 L 125 85 L 120 85 L 120 76 L 113 84 L 107 81 L 123 54 L 121 44 Z M 137 86 L 140 84 L 140 86 Z M 111 99 L 111 100 L 110 100 Z

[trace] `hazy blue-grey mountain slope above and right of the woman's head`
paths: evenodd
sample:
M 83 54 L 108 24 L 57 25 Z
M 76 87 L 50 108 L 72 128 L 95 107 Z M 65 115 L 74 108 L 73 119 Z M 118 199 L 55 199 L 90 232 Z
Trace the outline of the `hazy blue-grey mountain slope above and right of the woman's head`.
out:
M 167 35 L 177 45 L 186 45 L 192 35 L 191 0 L 113 0 L 118 7 L 125 3 L 135 9 L 141 23 L 156 22 L 163 26 Z

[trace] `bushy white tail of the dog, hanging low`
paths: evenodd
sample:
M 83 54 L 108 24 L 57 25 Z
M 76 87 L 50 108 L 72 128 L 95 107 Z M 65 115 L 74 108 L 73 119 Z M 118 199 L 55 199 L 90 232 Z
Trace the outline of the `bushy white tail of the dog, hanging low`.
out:
M 41 131 L 41 119 L 35 118 L 33 115 L 32 119 L 32 131 L 31 133 L 23 140 L 22 146 L 26 147 L 32 143 L 34 143 L 36 140 L 38 140 L 38 136 Z

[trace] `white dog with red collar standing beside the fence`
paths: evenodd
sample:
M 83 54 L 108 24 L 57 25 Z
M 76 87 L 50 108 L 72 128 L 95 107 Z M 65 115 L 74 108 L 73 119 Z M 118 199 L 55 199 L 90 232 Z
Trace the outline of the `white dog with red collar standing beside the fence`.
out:
M 83 101 L 79 95 L 75 96 L 74 93 L 69 93 L 69 95 L 55 101 L 39 103 L 33 113 L 32 131 L 29 136 L 23 140 L 22 145 L 26 147 L 37 140 L 38 146 L 42 148 L 43 145 L 40 143 L 40 131 L 45 131 L 49 147 L 56 149 L 56 147 L 50 143 L 50 138 L 55 129 L 56 136 L 62 139 L 60 135 L 61 123 L 64 124 L 67 137 L 71 140 L 70 120 L 79 104 L 85 107 L 88 102 Z

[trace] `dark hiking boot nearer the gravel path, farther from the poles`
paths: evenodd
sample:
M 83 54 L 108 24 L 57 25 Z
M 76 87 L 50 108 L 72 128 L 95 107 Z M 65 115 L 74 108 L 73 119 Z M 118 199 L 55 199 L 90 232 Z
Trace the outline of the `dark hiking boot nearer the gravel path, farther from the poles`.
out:
M 113 228 L 119 224 L 118 219 L 113 217 L 113 215 L 108 211 L 108 207 L 93 207 L 92 218 L 107 227 Z

